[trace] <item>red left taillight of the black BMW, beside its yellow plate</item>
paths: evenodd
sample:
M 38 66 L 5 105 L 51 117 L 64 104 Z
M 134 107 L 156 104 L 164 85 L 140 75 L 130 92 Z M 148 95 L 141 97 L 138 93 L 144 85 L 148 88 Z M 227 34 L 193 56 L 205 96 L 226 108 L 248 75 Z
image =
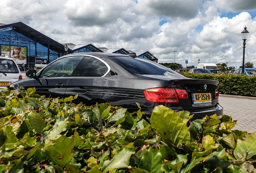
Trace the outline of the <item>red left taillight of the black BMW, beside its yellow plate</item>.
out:
M 154 88 L 146 89 L 143 94 L 147 101 L 155 103 L 180 103 L 179 99 L 188 99 L 188 93 L 183 89 Z

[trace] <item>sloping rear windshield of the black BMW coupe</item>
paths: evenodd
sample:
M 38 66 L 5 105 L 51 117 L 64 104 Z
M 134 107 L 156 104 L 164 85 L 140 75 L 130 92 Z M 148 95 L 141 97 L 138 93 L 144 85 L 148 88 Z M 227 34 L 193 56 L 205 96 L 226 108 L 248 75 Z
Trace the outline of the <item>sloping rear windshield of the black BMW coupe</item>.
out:
M 181 75 L 165 66 L 157 64 L 151 60 L 146 60 L 144 58 L 131 58 L 124 56 L 114 56 L 112 58 L 136 74 L 171 76 Z

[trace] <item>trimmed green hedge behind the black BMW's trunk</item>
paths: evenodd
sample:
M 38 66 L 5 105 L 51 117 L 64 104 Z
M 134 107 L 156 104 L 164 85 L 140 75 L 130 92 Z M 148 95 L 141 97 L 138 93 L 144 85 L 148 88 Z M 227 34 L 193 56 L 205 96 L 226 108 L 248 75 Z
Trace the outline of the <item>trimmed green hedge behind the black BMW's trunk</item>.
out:
M 220 94 L 256 97 L 256 76 L 245 74 L 182 73 L 188 78 L 218 80 Z

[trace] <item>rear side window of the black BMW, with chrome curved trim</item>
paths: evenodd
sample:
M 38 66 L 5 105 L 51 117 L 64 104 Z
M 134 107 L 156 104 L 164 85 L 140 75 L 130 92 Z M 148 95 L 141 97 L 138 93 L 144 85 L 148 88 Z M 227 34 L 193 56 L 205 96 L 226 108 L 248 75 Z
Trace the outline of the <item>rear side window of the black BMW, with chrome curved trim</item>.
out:
M 107 66 L 100 60 L 85 56 L 74 71 L 73 77 L 101 77 L 107 72 Z

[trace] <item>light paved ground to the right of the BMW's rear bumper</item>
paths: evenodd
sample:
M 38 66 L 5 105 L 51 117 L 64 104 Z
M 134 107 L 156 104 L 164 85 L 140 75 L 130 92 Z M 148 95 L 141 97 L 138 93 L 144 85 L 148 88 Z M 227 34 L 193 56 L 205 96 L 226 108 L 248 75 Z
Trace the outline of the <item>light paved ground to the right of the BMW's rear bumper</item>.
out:
M 224 114 L 237 120 L 232 130 L 256 131 L 256 100 L 219 97 L 219 104 L 224 109 Z

